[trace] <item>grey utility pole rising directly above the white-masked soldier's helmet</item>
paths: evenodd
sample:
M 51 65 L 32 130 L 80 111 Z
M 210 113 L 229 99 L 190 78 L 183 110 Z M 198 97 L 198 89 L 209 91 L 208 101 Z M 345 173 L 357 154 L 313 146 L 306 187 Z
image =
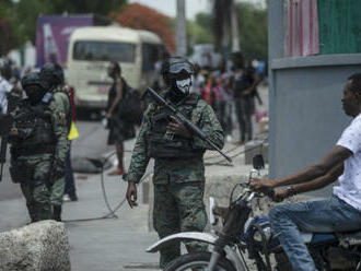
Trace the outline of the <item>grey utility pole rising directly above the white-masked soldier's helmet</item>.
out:
M 176 43 L 177 56 L 187 56 L 187 21 L 186 21 L 186 0 L 177 1 L 177 26 Z

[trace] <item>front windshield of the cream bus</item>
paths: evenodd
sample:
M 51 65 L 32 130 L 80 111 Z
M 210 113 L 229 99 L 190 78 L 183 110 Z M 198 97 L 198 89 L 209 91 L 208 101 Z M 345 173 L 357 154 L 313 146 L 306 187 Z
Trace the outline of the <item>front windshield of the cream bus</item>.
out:
M 135 44 L 82 40 L 73 49 L 74 60 L 135 62 Z

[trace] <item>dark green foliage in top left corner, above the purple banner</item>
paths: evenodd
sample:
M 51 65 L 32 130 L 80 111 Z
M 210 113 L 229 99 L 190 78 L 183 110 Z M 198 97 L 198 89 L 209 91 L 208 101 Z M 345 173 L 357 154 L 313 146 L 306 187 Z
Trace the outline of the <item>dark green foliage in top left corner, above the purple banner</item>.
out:
M 36 23 L 40 14 L 93 13 L 107 16 L 110 12 L 120 10 L 125 3 L 127 0 L 0 0 L 0 19 L 10 30 L 7 51 L 26 40 L 35 44 Z

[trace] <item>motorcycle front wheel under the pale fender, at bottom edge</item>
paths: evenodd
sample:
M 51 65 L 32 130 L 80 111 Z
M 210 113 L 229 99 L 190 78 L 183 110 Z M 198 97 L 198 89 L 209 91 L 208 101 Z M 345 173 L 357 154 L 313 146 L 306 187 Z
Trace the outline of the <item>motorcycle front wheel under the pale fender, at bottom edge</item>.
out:
M 164 271 L 207 270 L 211 252 L 186 254 L 170 262 Z M 216 271 L 236 271 L 230 260 L 220 258 Z

